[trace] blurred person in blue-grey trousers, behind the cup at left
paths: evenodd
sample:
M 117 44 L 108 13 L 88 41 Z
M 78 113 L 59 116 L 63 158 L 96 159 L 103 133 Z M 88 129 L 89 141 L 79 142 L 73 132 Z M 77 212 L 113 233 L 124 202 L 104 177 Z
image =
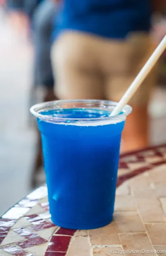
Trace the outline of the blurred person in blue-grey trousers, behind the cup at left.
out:
M 55 16 L 55 5 L 52 0 L 8 0 L 8 6 L 18 18 L 26 20 L 25 29 L 32 30 L 34 42 L 34 75 L 31 89 L 30 106 L 37 103 L 39 90 L 43 90 L 43 101 L 56 99 L 54 95 L 54 78 L 50 60 L 51 34 L 53 19 Z M 29 23 L 29 27 L 28 27 Z M 31 28 L 31 29 L 30 29 Z M 29 107 L 30 107 L 29 106 Z M 43 170 L 43 154 L 40 133 L 37 130 L 37 152 L 34 160 L 31 186 L 40 183 Z

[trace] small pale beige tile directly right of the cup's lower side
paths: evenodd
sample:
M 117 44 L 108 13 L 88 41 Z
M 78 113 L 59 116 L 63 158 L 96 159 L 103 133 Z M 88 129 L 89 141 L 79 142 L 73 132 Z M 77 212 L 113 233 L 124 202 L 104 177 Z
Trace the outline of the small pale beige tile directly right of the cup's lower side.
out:
M 131 195 L 117 195 L 115 198 L 115 211 L 136 211 Z

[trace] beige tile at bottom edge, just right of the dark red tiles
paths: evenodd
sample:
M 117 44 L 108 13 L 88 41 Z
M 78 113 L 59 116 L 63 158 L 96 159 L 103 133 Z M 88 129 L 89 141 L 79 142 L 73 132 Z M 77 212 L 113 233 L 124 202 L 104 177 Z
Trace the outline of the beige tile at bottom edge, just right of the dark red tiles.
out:
M 88 237 L 77 236 L 69 246 L 66 256 L 90 256 L 90 244 Z

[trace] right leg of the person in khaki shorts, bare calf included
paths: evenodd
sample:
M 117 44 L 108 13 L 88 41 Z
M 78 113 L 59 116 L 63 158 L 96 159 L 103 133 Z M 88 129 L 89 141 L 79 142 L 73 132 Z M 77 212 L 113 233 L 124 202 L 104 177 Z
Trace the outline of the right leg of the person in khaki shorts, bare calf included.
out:
M 152 53 L 152 44 L 148 35 L 135 34 L 126 39 L 123 45 L 121 45 L 121 50 L 126 51 L 126 55 L 121 56 L 117 49 L 114 50 L 117 69 L 110 72 L 107 76 L 107 83 L 105 87 L 107 99 L 117 102 L 121 99 L 129 85 L 135 79 L 140 69 L 143 67 L 143 64 L 148 60 Z M 120 61 L 119 68 L 118 61 Z M 148 145 L 148 105 L 154 85 L 155 69 L 145 79 L 129 102 L 133 111 L 126 120 L 122 136 L 122 151 L 143 148 Z

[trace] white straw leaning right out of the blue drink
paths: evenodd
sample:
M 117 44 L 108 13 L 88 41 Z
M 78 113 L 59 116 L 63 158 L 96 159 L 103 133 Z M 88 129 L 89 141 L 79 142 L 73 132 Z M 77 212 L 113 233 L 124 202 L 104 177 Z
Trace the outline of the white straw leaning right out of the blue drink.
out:
M 133 94 L 136 92 L 136 90 L 139 88 L 140 84 L 143 82 L 143 80 L 146 78 L 146 76 L 152 70 L 153 66 L 156 64 L 157 60 L 160 58 L 160 55 L 163 53 L 163 51 L 165 49 L 166 49 L 166 35 L 163 38 L 163 40 L 160 42 L 158 47 L 155 49 L 155 51 L 153 52 L 153 54 L 151 55 L 149 60 L 146 62 L 145 66 L 142 68 L 140 73 L 136 76 L 135 80 L 132 82 L 132 84 L 126 91 L 126 93 L 120 99 L 120 102 L 117 104 L 117 106 L 112 111 L 111 116 L 118 115 L 123 110 L 124 106 L 132 98 Z M 122 84 L 122 86 L 123 86 L 123 84 Z

